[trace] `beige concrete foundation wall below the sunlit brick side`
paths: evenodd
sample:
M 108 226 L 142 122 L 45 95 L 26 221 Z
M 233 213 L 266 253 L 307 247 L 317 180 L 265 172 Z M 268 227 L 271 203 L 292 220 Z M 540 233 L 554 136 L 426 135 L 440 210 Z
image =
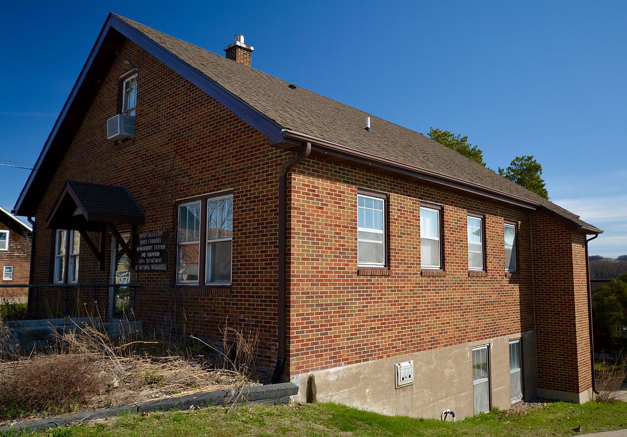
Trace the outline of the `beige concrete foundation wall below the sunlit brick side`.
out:
M 522 338 L 524 396 L 537 394 L 535 334 L 503 336 L 396 357 L 314 371 L 292 377 L 299 386 L 297 401 L 315 399 L 389 415 L 440 418 L 443 410 L 455 411 L 457 418 L 473 415 L 472 348 L 489 344 L 492 406 L 511 406 L 508 341 Z M 394 388 L 394 364 L 414 361 L 414 383 Z

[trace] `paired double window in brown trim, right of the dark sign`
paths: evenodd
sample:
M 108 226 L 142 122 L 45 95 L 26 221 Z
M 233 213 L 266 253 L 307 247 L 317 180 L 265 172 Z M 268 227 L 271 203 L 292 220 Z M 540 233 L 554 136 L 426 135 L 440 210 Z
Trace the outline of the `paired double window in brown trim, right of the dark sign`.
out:
M 177 210 L 176 284 L 230 285 L 233 195 L 195 198 Z

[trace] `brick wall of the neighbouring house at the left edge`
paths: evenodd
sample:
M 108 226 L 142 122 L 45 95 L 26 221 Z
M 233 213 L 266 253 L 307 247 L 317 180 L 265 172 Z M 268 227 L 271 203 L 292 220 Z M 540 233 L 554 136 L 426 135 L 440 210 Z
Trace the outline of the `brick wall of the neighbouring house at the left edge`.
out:
M 29 234 L 3 214 L 0 214 L 0 230 L 9 231 L 9 250 L 0 250 L 0 284 L 28 284 L 31 265 Z M 13 265 L 13 280 L 4 280 L 5 265 Z M 25 288 L 0 288 L 0 301 L 3 297 L 26 296 L 28 289 Z

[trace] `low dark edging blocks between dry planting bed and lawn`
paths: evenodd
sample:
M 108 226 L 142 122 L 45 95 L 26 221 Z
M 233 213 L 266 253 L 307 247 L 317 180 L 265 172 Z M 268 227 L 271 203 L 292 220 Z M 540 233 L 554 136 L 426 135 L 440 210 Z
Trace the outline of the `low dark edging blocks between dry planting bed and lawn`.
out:
M 204 393 L 186 394 L 176 398 L 155 399 L 134 404 L 120 405 L 111 408 L 90 409 L 68 416 L 55 416 L 45 419 L 19 422 L 0 426 L 0 432 L 19 429 L 58 428 L 70 423 L 82 423 L 94 419 L 104 419 L 123 413 L 150 413 L 152 411 L 181 411 L 200 406 L 241 406 L 243 404 L 287 404 L 290 396 L 298 394 L 298 386 L 294 383 L 272 384 L 268 386 L 250 386 L 241 389 L 207 391 Z

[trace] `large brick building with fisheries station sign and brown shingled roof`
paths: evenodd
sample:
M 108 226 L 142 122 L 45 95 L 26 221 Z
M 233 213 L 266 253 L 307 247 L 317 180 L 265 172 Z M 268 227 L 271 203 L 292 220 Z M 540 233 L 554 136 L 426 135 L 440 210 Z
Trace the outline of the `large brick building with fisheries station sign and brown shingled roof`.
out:
M 601 230 L 251 68 L 252 51 L 108 17 L 16 203 L 36 217 L 34 282 L 123 279 L 151 326 L 258 330 L 258 364 L 300 400 L 308 386 L 463 417 L 589 399 L 586 234 Z M 102 317 L 130 306 L 94 293 Z

